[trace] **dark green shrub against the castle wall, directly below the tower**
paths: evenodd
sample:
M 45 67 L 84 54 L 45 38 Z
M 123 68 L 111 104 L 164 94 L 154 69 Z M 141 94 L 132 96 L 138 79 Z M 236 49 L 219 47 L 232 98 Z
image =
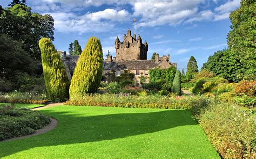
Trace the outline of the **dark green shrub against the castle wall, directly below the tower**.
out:
M 114 78 L 114 81 L 118 82 L 121 88 L 124 88 L 125 86 L 133 85 L 134 81 L 134 74 L 130 73 L 129 70 L 124 70 L 124 73 L 120 74 L 120 76 L 116 76 Z

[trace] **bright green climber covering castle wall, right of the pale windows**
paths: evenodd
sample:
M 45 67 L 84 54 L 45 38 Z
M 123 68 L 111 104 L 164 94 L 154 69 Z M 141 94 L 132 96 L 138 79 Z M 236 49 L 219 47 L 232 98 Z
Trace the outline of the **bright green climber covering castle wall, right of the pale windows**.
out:
M 169 69 L 150 69 L 150 82 L 157 82 L 160 80 L 164 80 L 166 82 L 173 82 L 174 76 L 176 74 L 176 68 L 170 67 Z

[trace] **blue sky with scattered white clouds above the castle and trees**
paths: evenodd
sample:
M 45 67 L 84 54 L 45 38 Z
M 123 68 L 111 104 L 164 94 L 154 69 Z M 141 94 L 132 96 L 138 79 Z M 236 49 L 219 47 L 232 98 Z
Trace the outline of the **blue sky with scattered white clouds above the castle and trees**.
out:
M 3 8 L 10 0 L 0 0 Z M 82 49 L 94 36 L 100 39 L 104 58 L 107 51 L 116 56 L 114 40 L 123 40 L 130 28 L 149 44 L 147 59 L 154 52 L 170 54 L 171 63 L 186 70 L 194 56 L 198 68 L 208 56 L 227 47 L 230 12 L 239 8 L 240 0 L 27 0 L 32 12 L 50 14 L 55 19 L 58 50 L 68 52 L 71 42 L 78 40 Z M 138 35 L 137 35 L 138 36 Z

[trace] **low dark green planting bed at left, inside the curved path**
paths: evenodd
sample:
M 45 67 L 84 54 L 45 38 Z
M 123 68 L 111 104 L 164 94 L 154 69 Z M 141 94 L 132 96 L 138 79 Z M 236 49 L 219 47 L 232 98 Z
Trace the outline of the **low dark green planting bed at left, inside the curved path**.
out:
M 15 106 L 0 106 L 0 140 L 35 133 L 50 123 L 50 118 L 41 112 Z

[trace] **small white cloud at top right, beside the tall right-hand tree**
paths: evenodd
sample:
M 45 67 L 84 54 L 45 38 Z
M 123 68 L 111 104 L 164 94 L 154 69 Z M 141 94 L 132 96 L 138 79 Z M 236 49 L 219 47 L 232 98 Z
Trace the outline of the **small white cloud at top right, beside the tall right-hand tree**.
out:
M 237 9 L 240 6 L 240 0 L 228 1 L 227 3 L 215 8 L 214 11 L 219 13 L 226 13 Z

